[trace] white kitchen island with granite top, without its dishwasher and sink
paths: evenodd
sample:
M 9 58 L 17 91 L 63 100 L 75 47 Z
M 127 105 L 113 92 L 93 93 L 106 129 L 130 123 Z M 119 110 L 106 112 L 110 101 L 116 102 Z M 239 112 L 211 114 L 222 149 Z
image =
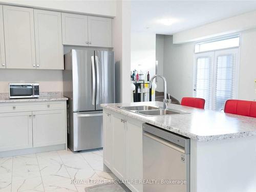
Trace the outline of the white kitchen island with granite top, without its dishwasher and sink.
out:
M 144 116 L 119 106 L 162 106 L 162 102 L 102 104 L 104 164 L 119 179 L 143 179 L 142 124 L 190 138 L 190 191 L 256 191 L 256 118 L 168 104 L 182 114 Z M 127 183 L 143 191 L 141 183 Z

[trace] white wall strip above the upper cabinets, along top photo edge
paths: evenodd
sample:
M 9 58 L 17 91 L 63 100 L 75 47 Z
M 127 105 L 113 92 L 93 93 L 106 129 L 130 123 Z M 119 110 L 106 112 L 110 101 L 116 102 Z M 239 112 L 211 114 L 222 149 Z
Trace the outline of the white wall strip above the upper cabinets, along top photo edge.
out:
M 14 5 L 55 9 L 68 12 L 89 13 L 104 16 L 116 16 L 116 1 L 0 1 Z

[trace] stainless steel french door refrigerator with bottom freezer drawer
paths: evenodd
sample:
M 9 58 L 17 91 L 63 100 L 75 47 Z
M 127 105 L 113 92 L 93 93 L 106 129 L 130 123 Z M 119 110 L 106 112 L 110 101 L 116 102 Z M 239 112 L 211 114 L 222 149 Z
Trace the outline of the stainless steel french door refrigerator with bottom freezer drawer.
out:
M 101 103 L 115 102 L 114 52 L 72 49 L 65 54 L 63 93 L 68 97 L 68 147 L 102 147 Z

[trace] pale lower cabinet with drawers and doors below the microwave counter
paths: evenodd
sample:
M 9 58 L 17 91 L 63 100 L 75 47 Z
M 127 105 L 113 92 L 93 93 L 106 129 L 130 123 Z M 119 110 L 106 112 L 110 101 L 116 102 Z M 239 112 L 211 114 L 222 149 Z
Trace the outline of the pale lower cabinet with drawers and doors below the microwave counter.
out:
M 0 152 L 67 143 L 66 101 L 0 103 Z

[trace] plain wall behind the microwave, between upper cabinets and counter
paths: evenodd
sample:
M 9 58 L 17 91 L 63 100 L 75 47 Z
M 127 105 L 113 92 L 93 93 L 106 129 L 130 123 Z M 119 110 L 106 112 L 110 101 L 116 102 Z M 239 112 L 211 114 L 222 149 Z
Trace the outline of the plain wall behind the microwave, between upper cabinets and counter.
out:
M 9 93 L 9 82 L 39 82 L 40 92 L 62 92 L 61 70 L 0 70 L 0 93 Z

